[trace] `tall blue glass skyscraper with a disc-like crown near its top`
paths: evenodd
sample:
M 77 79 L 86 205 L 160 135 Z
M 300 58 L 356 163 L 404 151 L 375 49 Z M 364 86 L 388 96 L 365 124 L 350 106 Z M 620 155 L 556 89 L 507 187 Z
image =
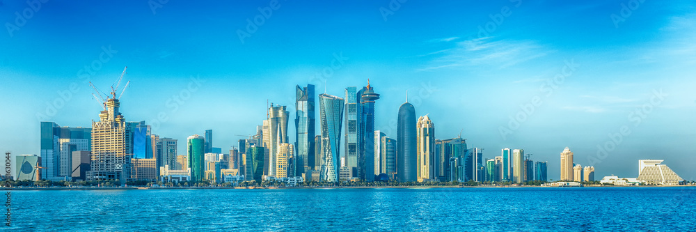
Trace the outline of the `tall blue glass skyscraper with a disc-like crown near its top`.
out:
M 370 80 L 367 80 L 367 86 L 360 93 L 358 178 L 374 181 L 374 101 L 379 99 L 379 94 L 374 93 L 372 86 L 370 86 Z

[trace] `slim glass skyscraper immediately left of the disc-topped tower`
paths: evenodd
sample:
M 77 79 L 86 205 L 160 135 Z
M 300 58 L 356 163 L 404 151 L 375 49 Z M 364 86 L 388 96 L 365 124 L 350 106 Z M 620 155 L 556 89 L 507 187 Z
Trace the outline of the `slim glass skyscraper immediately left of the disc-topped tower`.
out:
M 355 86 L 345 89 L 345 157 L 351 177 L 358 176 L 358 130 L 360 130 L 360 95 Z

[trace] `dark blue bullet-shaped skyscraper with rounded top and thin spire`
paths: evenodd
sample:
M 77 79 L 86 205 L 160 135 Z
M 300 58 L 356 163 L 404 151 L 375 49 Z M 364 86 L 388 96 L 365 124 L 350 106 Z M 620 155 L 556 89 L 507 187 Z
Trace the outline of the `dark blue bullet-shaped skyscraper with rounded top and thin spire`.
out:
M 408 102 L 399 107 L 397 120 L 397 178 L 401 182 L 416 181 L 416 108 Z

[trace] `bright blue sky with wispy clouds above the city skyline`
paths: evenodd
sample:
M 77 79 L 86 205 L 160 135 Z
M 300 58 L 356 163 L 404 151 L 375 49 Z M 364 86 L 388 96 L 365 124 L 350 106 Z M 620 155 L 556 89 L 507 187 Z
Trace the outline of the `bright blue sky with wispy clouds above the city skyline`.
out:
M 267 102 L 287 105 L 294 141 L 296 85 L 344 98 L 370 79 L 388 137 L 408 91 L 438 139 L 524 149 L 551 180 L 566 146 L 598 180 L 641 159 L 696 179 L 690 1 L 28 2 L 0 0 L 0 150 L 15 155 L 40 153 L 40 121 L 98 121 L 88 82 L 107 92 L 127 66 L 120 111 L 179 154 L 207 129 L 228 150 Z

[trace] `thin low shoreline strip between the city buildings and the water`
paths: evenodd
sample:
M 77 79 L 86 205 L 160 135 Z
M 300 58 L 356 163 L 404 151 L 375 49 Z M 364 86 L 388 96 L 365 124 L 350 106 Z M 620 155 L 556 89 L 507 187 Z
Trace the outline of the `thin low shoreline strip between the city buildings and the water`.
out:
M 326 189 L 431 189 L 431 188 L 582 188 L 582 187 L 696 187 L 696 185 L 609 185 L 609 186 L 346 186 L 346 187 L 11 187 L 5 191 L 33 190 L 326 190 Z

